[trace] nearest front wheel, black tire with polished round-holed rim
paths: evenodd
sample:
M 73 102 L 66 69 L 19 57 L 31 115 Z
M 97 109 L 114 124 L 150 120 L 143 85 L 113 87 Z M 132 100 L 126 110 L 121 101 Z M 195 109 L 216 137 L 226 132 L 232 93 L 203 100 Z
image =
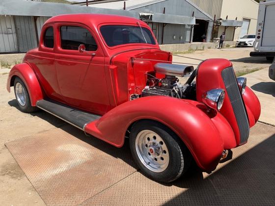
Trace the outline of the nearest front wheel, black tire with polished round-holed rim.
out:
M 169 128 L 161 123 L 142 120 L 130 133 L 131 153 L 141 171 L 153 180 L 170 182 L 190 167 L 192 156 Z

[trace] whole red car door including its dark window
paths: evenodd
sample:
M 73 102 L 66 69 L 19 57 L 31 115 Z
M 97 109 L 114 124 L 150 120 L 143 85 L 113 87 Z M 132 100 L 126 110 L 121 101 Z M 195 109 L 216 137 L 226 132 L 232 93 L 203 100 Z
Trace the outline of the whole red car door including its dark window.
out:
M 110 107 L 104 53 L 92 30 L 82 24 L 59 23 L 55 67 L 62 98 L 68 105 L 104 114 Z M 84 44 L 87 52 L 79 52 Z

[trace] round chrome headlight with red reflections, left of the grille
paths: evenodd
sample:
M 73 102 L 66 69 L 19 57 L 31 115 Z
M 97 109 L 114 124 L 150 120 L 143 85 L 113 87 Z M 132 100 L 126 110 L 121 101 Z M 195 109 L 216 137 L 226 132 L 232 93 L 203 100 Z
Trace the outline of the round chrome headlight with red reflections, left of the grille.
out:
M 207 106 L 220 110 L 224 102 L 225 92 L 223 89 L 211 89 L 202 96 L 202 102 Z

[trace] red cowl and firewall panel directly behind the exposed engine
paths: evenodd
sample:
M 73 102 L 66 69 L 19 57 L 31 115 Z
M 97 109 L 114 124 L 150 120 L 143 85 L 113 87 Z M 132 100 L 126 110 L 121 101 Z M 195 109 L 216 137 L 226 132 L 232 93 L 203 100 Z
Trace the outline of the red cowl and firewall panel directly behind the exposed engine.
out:
M 110 77 L 116 105 L 129 101 L 131 94 L 141 94 L 148 72 L 160 61 L 171 62 L 169 52 L 156 49 L 134 50 L 114 55 L 110 62 Z

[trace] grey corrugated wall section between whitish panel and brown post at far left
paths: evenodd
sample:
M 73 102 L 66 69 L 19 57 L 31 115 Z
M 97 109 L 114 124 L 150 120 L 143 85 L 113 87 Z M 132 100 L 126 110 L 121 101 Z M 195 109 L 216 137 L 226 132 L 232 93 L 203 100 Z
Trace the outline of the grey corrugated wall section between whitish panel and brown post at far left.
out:
M 33 17 L 14 16 L 19 52 L 37 47 Z

